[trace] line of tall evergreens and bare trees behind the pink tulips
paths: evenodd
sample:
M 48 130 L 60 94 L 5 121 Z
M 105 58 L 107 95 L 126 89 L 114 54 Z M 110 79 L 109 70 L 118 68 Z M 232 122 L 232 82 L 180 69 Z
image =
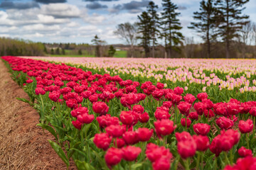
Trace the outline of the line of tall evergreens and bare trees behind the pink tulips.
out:
M 212 53 L 216 47 L 225 45 L 225 57 L 234 57 L 234 47 L 238 43 L 249 50 L 250 45 L 247 41 L 249 36 L 254 35 L 256 45 L 256 25 L 250 23 L 249 16 L 242 13 L 244 5 L 249 0 L 202 0 L 199 11 L 193 13 L 195 22 L 191 22 L 188 28 L 196 30 L 203 39 L 201 46 L 206 48 L 206 57 L 213 56 Z M 144 48 L 144 57 L 156 56 L 156 50 L 161 47 L 159 41 L 164 41 L 164 56 L 176 57 L 185 56 L 187 49 L 191 44 L 186 44 L 181 33 L 181 22 L 177 12 L 178 6 L 171 0 L 162 0 L 162 12 L 159 13 L 159 6 L 150 1 L 138 16 L 138 21 L 134 24 L 122 23 L 117 26 L 114 32 L 126 40 L 131 45 L 131 57 L 134 57 L 134 42 L 139 40 L 139 45 Z M 247 29 L 247 30 L 246 30 Z M 195 45 L 193 45 L 195 46 Z M 249 47 L 248 47 L 249 46 Z M 222 47 L 221 47 L 222 48 Z M 242 51 L 242 57 L 245 57 L 246 50 Z M 236 57 L 241 57 L 235 55 Z

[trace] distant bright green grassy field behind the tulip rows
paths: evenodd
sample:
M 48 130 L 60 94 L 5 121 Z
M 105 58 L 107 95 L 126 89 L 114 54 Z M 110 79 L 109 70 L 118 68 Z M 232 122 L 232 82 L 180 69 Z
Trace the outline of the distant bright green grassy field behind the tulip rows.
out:
M 65 50 L 65 55 L 48 55 L 50 57 L 95 57 L 95 55 L 87 55 L 86 51 L 82 51 L 82 55 L 74 55 L 71 50 Z M 114 57 L 122 58 L 127 56 L 127 51 L 117 51 Z

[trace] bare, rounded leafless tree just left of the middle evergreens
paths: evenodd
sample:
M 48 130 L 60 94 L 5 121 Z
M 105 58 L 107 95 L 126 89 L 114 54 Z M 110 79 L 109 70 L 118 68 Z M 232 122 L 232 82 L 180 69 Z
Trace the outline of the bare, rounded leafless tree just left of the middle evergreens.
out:
M 137 23 L 121 23 L 117 26 L 117 30 L 114 31 L 115 35 L 121 36 L 127 42 L 127 45 L 131 46 L 131 57 L 134 57 L 134 45 L 137 42 Z

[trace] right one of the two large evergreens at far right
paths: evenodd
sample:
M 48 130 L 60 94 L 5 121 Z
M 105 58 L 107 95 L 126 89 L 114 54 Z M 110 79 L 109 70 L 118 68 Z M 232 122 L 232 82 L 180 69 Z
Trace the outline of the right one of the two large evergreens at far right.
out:
M 230 42 L 233 38 L 239 36 L 239 30 L 242 29 L 248 21 L 249 16 L 242 15 L 242 8 L 249 0 L 217 0 L 218 8 L 218 28 L 219 33 L 225 41 L 226 58 L 230 57 Z

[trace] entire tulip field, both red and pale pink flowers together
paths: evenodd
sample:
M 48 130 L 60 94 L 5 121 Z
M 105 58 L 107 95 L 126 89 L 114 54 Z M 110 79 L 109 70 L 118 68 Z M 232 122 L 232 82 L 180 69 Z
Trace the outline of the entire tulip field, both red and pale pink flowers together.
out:
M 1 59 L 67 169 L 256 169 L 256 60 Z

